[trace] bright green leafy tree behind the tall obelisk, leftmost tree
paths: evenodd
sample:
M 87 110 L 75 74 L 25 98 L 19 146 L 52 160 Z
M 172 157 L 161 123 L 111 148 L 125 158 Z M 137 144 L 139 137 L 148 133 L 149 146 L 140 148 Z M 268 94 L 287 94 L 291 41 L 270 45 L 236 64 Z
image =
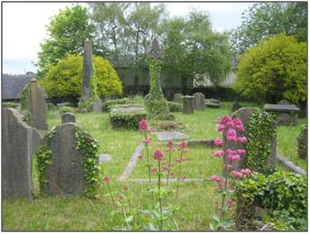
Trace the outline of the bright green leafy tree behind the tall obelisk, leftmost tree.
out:
M 42 78 L 50 66 L 57 64 L 66 53 L 81 53 L 86 39 L 93 37 L 93 26 L 89 23 L 87 9 L 80 5 L 66 7 L 52 17 L 47 25 L 49 38 L 38 52 L 38 77 Z

